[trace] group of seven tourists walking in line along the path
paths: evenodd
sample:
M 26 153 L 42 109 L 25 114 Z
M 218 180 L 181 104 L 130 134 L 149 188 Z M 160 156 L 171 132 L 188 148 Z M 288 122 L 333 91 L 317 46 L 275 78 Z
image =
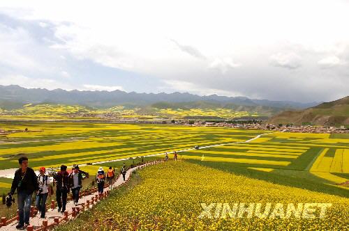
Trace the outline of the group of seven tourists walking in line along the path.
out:
M 6 201 L 11 201 L 17 189 L 17 204 L 19 210 L 19 221 L 16 226 L 17 229 L 22 229 L 29 225 L 29 215 L 31 208 L 31 200 L 33 193 L 36 193 L 35 206 L 40 212 L 40 218 L 45 218 L 46 200 L 48 196 L 52 195 L 50 186 L 50 177 L 46 173 L 45 167 L 40 167 L 38 176 L 32 168 L 28 167 L 28 158 L 20 157 L 18 159 L 20 168 L 15 171 L 15 177 L 12 182 L 10 193 L 6 197 Z M 72 192 L 72 198 L 75 206 L 79 202 L 79 193 L 82 189 L 83 175 L 89 177 L 89 173 L 80 170 L 79 166 L 74 165 L 71 173 L 68 173 L 67 166 L 62 165 L 58 173 L 53 174 L 54 184 L 57 185 L 56 200 L 58 205 L 58 212 L 64 213 L 66 211 L 66 203 L 68 193 Z M 126 166 L 121 168 L 121 175 L 124 181 L 126 180 Z M 103 193 L 105 181 L 112 189 L 113 180 L 115 177 L 115 170 L 110 167 L 107 173 L 104 172 L 103 167 L 98 168 L 96 173 L 96 183 L 98 185 L 98 193 Z

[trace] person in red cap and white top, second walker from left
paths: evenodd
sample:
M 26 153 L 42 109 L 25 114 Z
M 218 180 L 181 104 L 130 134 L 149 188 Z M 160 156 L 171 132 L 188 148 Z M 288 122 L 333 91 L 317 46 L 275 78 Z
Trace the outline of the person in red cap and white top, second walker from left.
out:
M 35 207 L 37 207 L 38 211 L 41 213 L 40 218 L 45 218 L 46 199 L 47 196 L 51 196 L 50 177 L 48 177 L 48 175 L 45 173 L 45 167 L 41 167 L 40 174 L 38 175 L 39 191 L 36 194 L 35 201 Z

